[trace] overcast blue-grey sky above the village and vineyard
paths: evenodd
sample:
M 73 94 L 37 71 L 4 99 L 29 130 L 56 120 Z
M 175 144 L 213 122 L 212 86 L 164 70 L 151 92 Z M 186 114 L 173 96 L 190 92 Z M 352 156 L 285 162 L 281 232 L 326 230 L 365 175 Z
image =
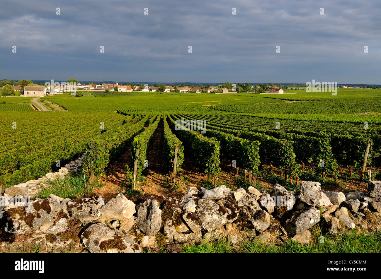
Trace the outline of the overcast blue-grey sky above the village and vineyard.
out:
M 379 0 L 1 0 L 0 79 L 381 84 L 380 15 Z

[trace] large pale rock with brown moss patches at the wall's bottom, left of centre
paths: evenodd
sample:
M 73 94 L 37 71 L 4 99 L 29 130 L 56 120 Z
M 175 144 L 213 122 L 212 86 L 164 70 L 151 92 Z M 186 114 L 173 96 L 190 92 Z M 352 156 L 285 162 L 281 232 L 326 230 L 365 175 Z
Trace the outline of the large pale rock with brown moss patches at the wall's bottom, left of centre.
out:
M 141 252 L 137 244 L 127 242 L 123 233 L 105 223 L 89 226 L 81 235 L 82 243 L 91 253 Z

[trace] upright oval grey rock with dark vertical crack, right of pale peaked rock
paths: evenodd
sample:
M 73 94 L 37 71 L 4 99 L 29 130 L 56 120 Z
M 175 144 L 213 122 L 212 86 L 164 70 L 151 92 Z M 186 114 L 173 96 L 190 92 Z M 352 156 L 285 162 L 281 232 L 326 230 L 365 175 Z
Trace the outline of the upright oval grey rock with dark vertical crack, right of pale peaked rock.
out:
M 146 235 L 154 235 L 160 230 L 162 224 L 162 210 L 159 203 L 151 199 L 147 199 L 138 209 L 138 219 L 136 224 L 139 230 Z

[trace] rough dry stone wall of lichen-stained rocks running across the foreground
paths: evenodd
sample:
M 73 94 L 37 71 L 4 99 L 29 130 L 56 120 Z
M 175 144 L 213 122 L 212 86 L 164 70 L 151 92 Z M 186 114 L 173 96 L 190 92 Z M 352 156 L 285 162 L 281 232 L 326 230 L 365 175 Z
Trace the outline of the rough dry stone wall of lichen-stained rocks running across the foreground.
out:
M 54 251 L 141 252 L 221 237 L 236 243 L 242 236 L 308 244 L 309 229 L 319 222 L 331 234 L 355 227 L 374 232 L 381 228 L 380 216 L 379 181 L 370 181 L 367 193 L 347 195 L 322 191 L 312 181 L 302 182 L 299 193 L 276 184 L 269 192 L 189 187 L 180 198 L 119 194 L 108 202 L 101 196 L 71 200 L 51 195 L 0 206 L 0 249 L 10 252 L 30 243 Z M 26 240 L 10 245 L 2 235 Z

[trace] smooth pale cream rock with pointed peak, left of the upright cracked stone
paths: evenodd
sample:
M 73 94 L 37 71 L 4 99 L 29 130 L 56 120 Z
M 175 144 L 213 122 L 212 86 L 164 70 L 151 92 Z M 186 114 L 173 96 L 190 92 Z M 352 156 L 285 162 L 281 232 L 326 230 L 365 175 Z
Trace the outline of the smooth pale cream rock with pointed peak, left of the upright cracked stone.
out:
M 105 206 L 98 209 L 98 217 L 108 220 L 125 220 L 130 219 L 135 212 L 135 204 L 124 195 L 118 194 L 107 202 Z

